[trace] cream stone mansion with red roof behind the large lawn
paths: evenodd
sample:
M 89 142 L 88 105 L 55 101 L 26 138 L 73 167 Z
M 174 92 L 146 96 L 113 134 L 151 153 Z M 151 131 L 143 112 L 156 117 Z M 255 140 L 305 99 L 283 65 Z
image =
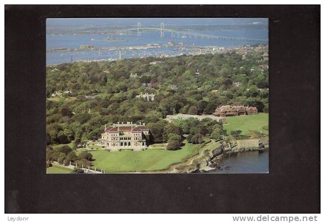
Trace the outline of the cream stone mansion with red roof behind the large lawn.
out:
M 145 123 L 136 125 L 132 122 L 122 122 L 105 127 L 104 133 L 98 141 L 109 150 L 141 150 L 147 148 L 148 138 L 149 129 Z

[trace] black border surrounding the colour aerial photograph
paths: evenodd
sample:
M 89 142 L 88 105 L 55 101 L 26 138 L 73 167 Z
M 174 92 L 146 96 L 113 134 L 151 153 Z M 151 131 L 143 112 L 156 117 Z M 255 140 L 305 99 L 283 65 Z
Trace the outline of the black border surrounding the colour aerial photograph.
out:
M 5 213 L 320 213 L 320 10 L 5 5 Z M 46 174 L 49 17 L 269 18 L 270 173 Z

